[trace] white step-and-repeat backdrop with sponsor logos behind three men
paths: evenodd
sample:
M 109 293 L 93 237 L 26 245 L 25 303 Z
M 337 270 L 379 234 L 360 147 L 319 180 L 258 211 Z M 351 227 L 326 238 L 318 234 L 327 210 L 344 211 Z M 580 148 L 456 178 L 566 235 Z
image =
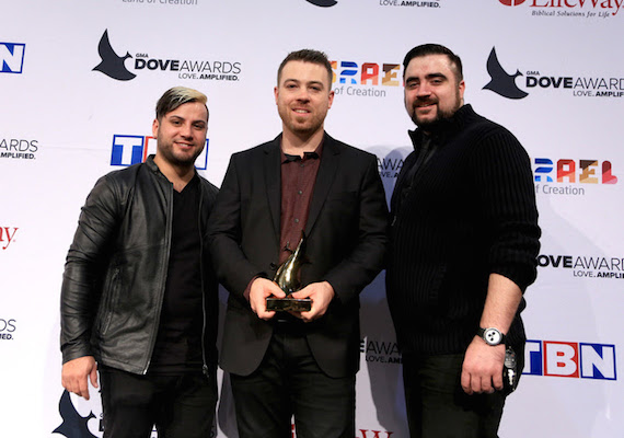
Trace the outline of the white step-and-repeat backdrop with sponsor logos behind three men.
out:
M 539 278 L 500 436 L 622 437 L 623 3 L 0 0 L 0 436 L 102 436 L 97 390 L 84 401 L 60 385 L 65 256 L 95 181 L 155 149 L 166 89 L 208 95 L 197 168 L 219 186 L 233 152 L 280 131 L 281 59 L 324 50 L 336 93 L 326 129 L 377 154 L 390 197 L 413 128 L 401 64 L 434 42 L 462 57 L 466 102 L 515 132 L 533 165 Z M 408 436 L 383 283 L 361 295 L 358 438 Z M 220 373 L 216 434 L 230 438 L 228 381 Z

